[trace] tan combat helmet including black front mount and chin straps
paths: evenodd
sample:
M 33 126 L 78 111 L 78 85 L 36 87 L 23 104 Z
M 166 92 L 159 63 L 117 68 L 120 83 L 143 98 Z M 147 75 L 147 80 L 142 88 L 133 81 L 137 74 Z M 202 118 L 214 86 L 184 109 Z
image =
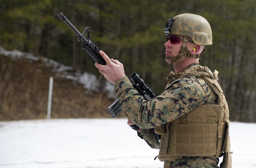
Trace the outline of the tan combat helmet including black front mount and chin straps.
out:
M 184 35 L 183 45 L 179 51 L 179 55 L 177 55 L 170 64 L 175 63 L 183 56 L 199 58 L 206 50 L 206 45 L 212 44 L 211 26 L 205 18 L 199 15 L 184 13 L 170 18 L 165 25 L 164 33 L 166 35 Z M 186 47 L 188 37 L 190 37 L 196 45 L 203 45 L 204 50 L 199 54 L 190 54 L 190 51 Z M 172 57 L 166 56 L 165 59 L 172 59 Z

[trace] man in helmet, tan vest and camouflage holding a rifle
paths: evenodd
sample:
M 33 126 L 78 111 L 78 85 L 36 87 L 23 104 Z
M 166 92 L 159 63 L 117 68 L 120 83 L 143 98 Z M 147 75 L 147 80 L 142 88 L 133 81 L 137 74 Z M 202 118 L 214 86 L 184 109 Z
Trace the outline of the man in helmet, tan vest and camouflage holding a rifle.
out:
M 218 71 L 199 65 L 199 57 L 212 44 L 208 21 L 190 13 L 170 18 L 165 26 L 165 61 L 175 72 L 167 77 L 162 94 L 148 101 L 133 88 L 122 63 L 100 52 L 106 65 L 95 63 L 114 83 L 127 124 L 136 124 L 137 135 L 169 167 L 231 167 L 229 110 L 218 84 Z M 156 134 L 161 135 L 160 142 Z

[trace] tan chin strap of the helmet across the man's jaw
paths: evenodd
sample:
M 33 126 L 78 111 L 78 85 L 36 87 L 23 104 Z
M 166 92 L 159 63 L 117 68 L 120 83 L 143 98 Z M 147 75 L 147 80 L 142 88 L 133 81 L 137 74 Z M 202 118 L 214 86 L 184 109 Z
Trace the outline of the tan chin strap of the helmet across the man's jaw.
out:
M 165 59 L 166 60 L 172 60 L 173 59 L 171 62 L 169 62 L 170 64 L 173 64 L 178 59 L 182 58 L 184 55 L 186 57 L 199 58 L 200 55 L 206 50 L 205 49 L 201 54 L 190 54 L 190 51 L 188 51 L 188 48 L 187 48 L 187 42 L 188 42 L 188 36 L 184 36 L 183 45 L 181 46 L 181 49 L 179 51 L 179 55 L 177 55 L 174 59 L 173 59 L 173 57 L 166 56 Z

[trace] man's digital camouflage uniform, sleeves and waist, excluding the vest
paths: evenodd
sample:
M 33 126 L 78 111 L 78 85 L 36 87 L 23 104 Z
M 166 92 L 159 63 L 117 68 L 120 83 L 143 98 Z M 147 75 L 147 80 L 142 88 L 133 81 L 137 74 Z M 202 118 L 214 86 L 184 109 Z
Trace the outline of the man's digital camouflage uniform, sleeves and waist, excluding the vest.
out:
M 199 64 L 192 64 L 185 68 L 193 68 Z M 178 74 L 170 74 L 170 77 Z M 204 104 L 217 104 L 218 96 L 208 83 L 200 77 L 189 76 L 177 80 L 155 100 L 148 102 L 133 88 L 127 77 L 119 79 L 114 87 L 116 97 L 123 114 L 142 128 L 138 136 L 143 138 L 152 148 L 159 149 L 154 128 L 173 121 L 187 114 L 195 107 Z M 168 95 L 168 98 L 166 98 Z M 218 167 L 219 159 L 209 157 L 182 157 L 170 162 L 170 167 Z M 165 165 L 167 166 L 167 165 Z

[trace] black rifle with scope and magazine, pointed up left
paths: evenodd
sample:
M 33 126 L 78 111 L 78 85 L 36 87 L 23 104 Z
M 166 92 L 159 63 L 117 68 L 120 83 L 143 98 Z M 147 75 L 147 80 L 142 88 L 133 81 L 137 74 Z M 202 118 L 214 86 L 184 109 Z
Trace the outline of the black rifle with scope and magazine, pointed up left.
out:
M 58 14 L 60 19 L 65 22 L 70 29 L 78 36 L 78 41 L 82 40 L 83 45 L 81 46 L 82 50 L 86 50 L 88 54 L 99 64 L 106 65 L 106 61 L 102 58 L 99 51 L 101 51 L 100 47 L 90 38 L 90 28 L 86 27 L 82 34 L 74 27 L 68 19 L 60 12 Z M 87 33 L 87 37 L 84 35 L 84 33 Z M 154 100 L 155 94 L 153 93 L 152 89 L 149 89 L 149 85 L 145 85 L 144 81 L 141 78 L 141 75 L 137 75 L 136 73 L 131 75 L 131 80 L 133 87 L 141 94 L 143 95 L 148 101 Z M 115 118 L 121 113 L 121 108 L 118 103 L 118 99 L 108 107 L 108 110 L 110 112 L 110 115 L 112 118 Z M 137 125 L 131 125 L 131 128 L 138 131 L 139 127 Z

